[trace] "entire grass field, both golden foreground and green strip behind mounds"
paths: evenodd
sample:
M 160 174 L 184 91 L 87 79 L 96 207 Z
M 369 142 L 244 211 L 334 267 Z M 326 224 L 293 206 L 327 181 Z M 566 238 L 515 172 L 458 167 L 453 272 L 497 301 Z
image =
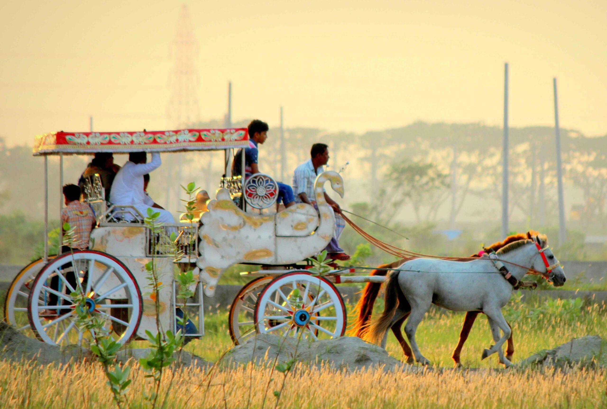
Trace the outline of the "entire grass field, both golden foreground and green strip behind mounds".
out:
M 351 309 L 351 307 L 349 308 Z M 376 310 L 381 311 L 381 301 Z M 577 301 L 521 302 L 514 296 L 504 315 L 514 330 L 514 362 L 543 348 L 554 348 L 572 338 L 597 334 L 607 339 L 607 310 Z M 418 343 L 436 367 L 452 367 L 450 358 L 463 322 L 463 313 L 432 309 L 418 330 Z M 227 311 L 206 314 L 206 334 L 186 350 L 217 361 L 232 346 Z M 425 373 L 387 373 L 369 370 L 339 373 L 328 368 L 296 367 L 285 381 L 268 368 L 168 371 L 161 396 L 168 408 L 603 408 L 607 407 L 605 369 L 575 369 L 568 373 L 529 368 L 501 369 L 497 354 L 480 360 L 492 344 L 489 325 L 480 316 L 462 353 L 464 367 L 452 371 L 432 368 Z M 605 353 L 597 360 L 607 364 Z M 132 342 L 131 347 L 145 347 Z M 402 352 L 392 334 L 388 351 L 397 359 Z M 489 368 L 495 368 L 489 369 Z M 149 407 L 144 401 L 151 383 L 137 364 L 127 397 L 129 407 Z M 270 381 L 272 379 L 272 381 Z M 172 380 L 172 383 L 171 383 Z M 64 369 L 35 367 L 31 363 L 0 362 L 2 408 L 112 408 L 115 404 L 98 365 L 75 364 Z M 265 399 L 265 402 L 264 402 Z

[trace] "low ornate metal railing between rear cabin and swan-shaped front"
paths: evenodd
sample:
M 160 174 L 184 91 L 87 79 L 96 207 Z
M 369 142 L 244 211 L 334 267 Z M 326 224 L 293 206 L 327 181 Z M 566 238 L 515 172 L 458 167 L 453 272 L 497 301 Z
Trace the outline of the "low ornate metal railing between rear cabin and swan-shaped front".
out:
M 146 257 L 174 257 L 175 244 L 171 243 L 171 233 L 177 233 L 175 244 L 183 253 L 181 261 L 196 261 L 198 258 L 198 225 L 190 223 L 165 223 L 162 231 L 152 233 L 146 228 Z

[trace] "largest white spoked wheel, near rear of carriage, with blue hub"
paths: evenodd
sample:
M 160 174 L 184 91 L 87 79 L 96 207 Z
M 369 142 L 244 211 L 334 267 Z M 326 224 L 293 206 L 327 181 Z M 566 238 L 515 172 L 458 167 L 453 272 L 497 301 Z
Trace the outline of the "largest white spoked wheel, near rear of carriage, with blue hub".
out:
M 86 294 L 86 298 L 76 304 L 70 293 Z M 32 331 L 40 341 L 86 347 L 93 334 L 79 328 L 75 308 L 100 318 L 104 330 L 124 344 L 137 332 L 143 299 L 122 262 L 101 251 L 82 250 L 63 254 L 42 268 L 27 308 Z

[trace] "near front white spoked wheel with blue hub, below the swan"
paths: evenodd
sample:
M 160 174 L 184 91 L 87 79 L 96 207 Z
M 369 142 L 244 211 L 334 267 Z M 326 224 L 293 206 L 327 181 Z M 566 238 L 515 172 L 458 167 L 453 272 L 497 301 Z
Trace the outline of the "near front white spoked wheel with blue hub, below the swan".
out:
M 337 288 L 305 272 L 283 274 L 266 285 L 255 318 L 259 333 L 314 341 L 339 338 L 346 328 L 344 299 Z

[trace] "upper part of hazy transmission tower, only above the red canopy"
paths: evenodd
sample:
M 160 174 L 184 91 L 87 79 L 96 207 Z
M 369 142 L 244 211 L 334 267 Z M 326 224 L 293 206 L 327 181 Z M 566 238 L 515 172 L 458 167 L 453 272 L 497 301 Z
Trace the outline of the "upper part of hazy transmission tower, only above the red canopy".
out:
M 194 64 L 194 59 L 198 56 L 198 41 L 185 4 L 181 6 L 177 19 L 171 52 L 174 65 L 169 77 L 171 99 L 166 107 L 166 116 L 169 127 L 177 128 L 200 120 L 199 78 Z

